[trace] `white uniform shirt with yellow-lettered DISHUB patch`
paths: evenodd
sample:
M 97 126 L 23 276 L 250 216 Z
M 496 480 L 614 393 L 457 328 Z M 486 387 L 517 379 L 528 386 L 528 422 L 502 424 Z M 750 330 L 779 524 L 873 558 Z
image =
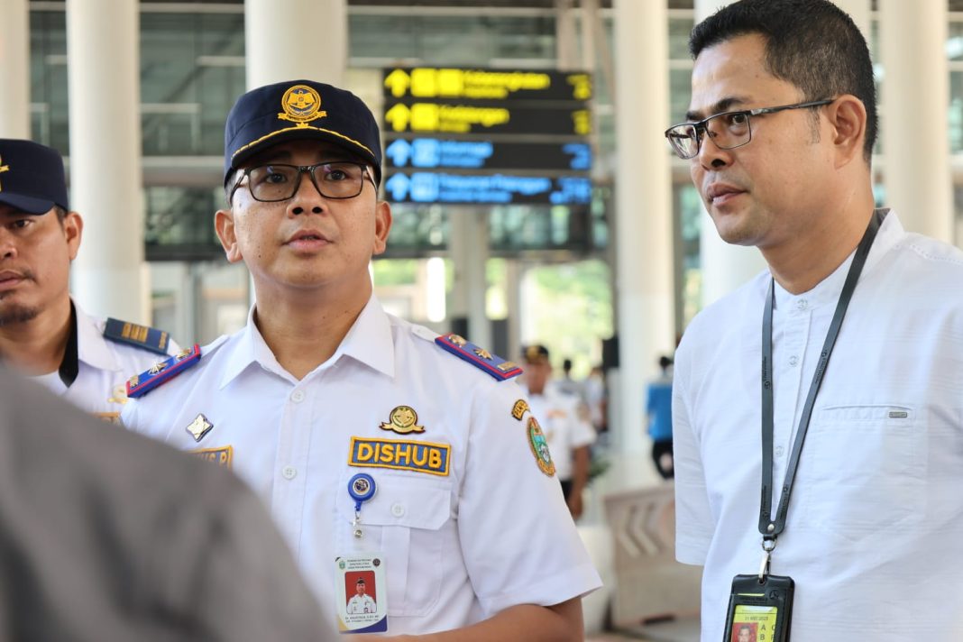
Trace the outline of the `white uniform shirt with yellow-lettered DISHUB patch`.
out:
M 559 483 L 539 470 L 526 422 L 512 416 L 521 388 L 437 347 L 435 336 L 387 315 L 373 296 L 335 354 L 299 381 L 248 319 L 204 347 L 196 366 L 129 403 L 122 420 L 176 448 L 229 458 L 270 505 L 328 613 L 335 557 L 362 552 L 385 558 L 389 634 L 453 629 L 597 588 Z M 382 427 L 400 406 L 423 431 Z M 186 429 L 198 414 L 214 426 L 199 442 Z M 352 464 L 357 444 L 374 440 L 445 451 L 445 474 L 404 470 L 408 460 L 397 460 L 401 470 Z M 360 510 L 360 539 L 348 493 L 358 473 L 377 484 Z

